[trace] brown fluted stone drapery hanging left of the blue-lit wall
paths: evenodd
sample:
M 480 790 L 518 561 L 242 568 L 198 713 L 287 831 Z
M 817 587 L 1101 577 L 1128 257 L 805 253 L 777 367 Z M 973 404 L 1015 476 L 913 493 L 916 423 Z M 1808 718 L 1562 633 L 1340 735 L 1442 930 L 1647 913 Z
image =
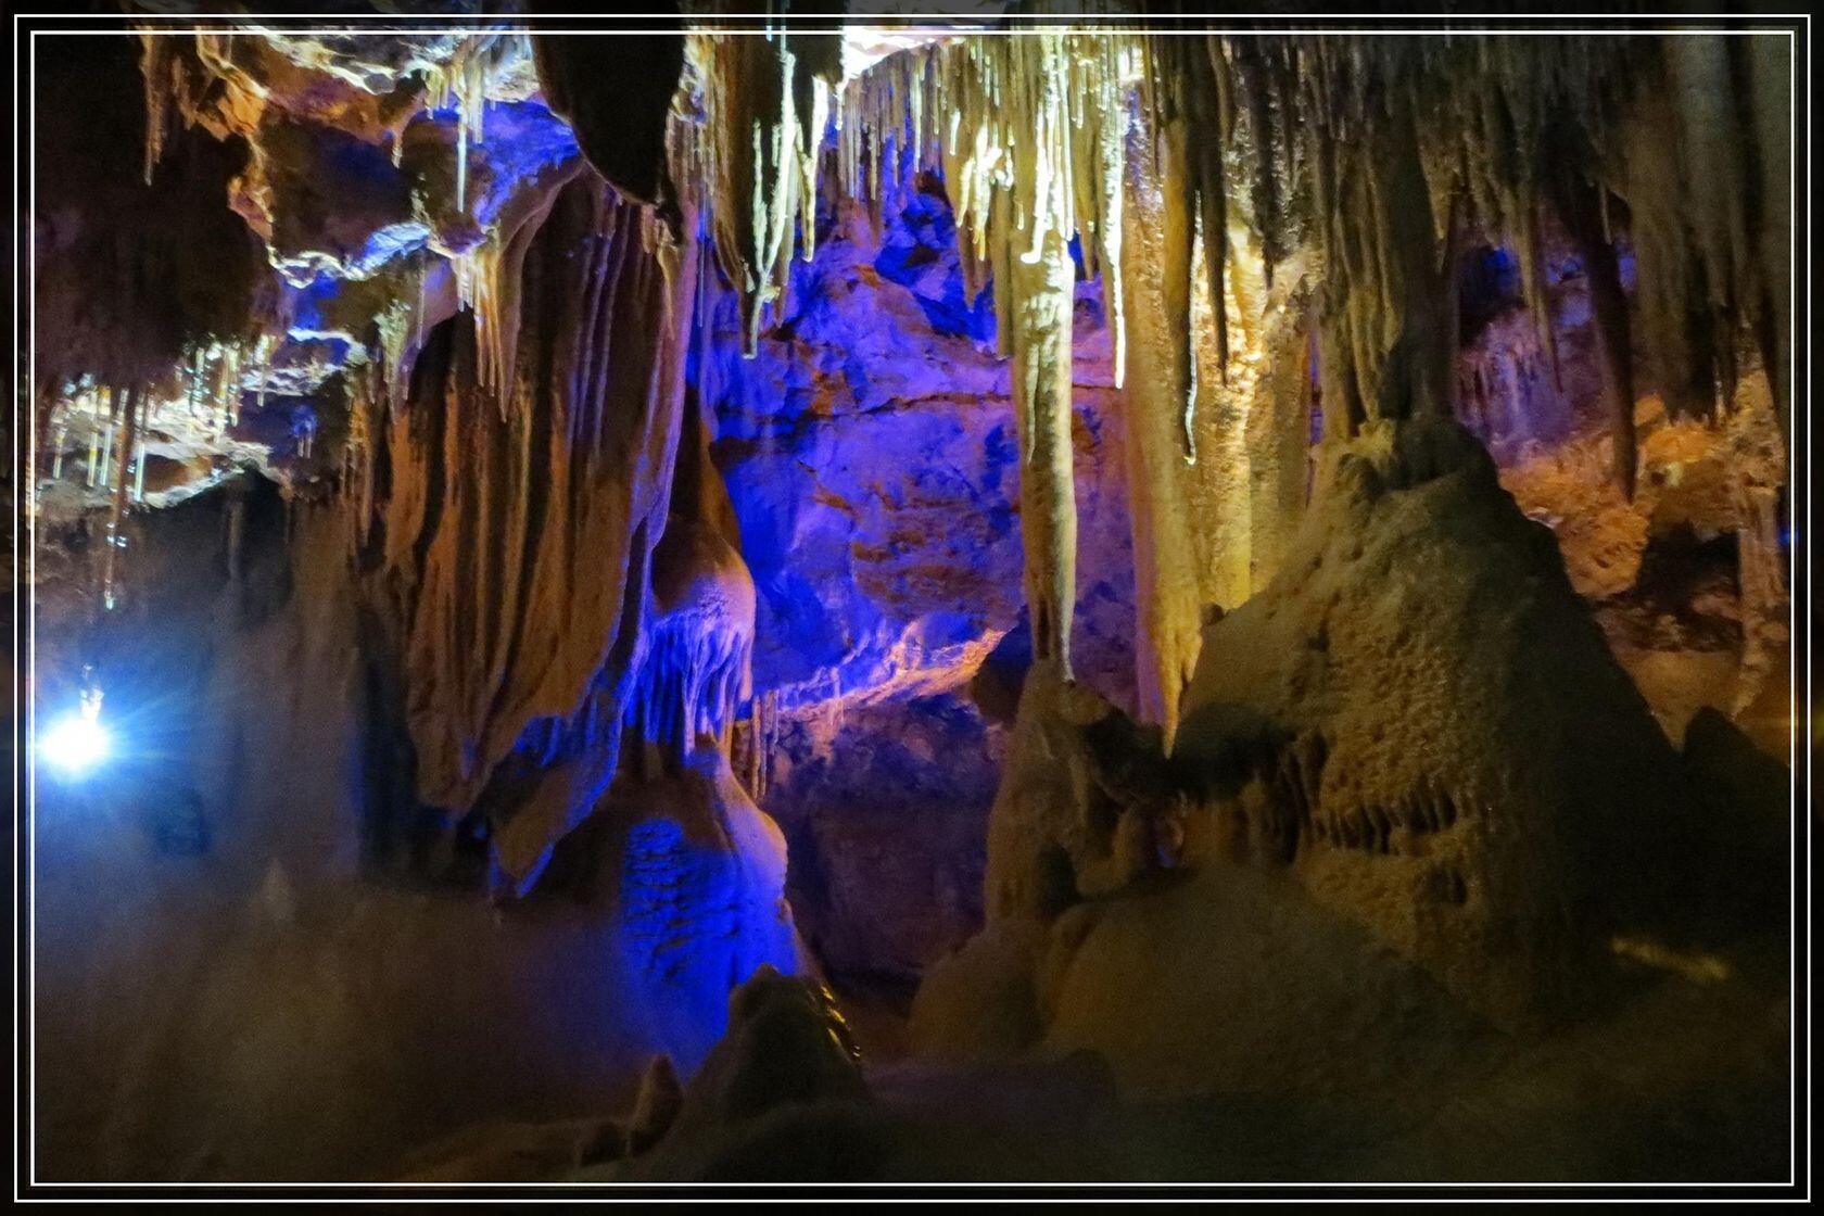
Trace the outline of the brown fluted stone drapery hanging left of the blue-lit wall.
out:
M 467 312 L 445 323 L 370 454 L 365 540 L 376 614 L 398 631 L 416 800 L 460 819 L 498 778 L 485 813 L 516 890 L 618 758 L 680 430 L 668 321 L 688 323 L 693 281 L 691 263 L 660 266 L 657 221 L 600 179 L 547 206 L 507 270 L 511 377 L 480 376 Z M 503 771 L 514 755 L 538 764 Z

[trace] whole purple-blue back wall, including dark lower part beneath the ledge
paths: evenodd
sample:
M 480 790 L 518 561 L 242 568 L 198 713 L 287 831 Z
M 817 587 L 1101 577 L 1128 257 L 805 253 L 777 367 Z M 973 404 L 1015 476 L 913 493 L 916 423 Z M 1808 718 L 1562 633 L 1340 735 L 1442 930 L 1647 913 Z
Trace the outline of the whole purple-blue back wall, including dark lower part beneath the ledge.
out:
M 1001 727 L 969 698 L 1021 625 L 1018 445 L 992 301 L 965 299 L 925 179 L 876 237 L 823 208 L 781 323 L 739 356 L 722 295 L 697 346 L 713 456 L 759 589 L 761 804 L 801 930 L 843 975 L 907 979 L 981 915 Z M 1109 337 L 1076 303 L 1080 675 L 1133 698 L 1133 560 Z

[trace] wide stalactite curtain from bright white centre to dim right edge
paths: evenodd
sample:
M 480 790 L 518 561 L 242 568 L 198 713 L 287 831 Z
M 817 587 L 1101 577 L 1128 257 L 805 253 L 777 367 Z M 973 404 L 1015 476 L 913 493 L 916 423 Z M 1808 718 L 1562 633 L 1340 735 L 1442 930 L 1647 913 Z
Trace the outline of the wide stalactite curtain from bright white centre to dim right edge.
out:
M 1147 500 L 1136 558 L 1151 554 L 1140 598 L 1156 618 L 1142 631 L 1162 634 L 1149 647 L 1160 669 L 1142 684 L 1169 731 L 1209 580 L 1173 583 L 1189 541 L 1166 445 L 1195 465 L 1198 376 L 1228 383 L 1229 328 L 1259 325 L 1293 252 L 1315 255 L 1326 436 L 1456 408 L 1454 259 L 1468 233 L 1518 250 L 1554 372 L 1549 224 L 1570 241 L 1591 279 L 1627 492 L 1634 368 L 1618 250 L 1638 253 L 1636 312 L 1662 381 L 1713 383 L 1727 399 L 1744 343 L 1758 339 L 1775 363 L 1788 164 L 1771 135 L 1784 131 L 1789 67 L 1778 40 L 1738 42 L 1025 29 L 896 55 L 852 80 L 837 111 L 843 188 L 877 208 L 916 171 L 939 173 L 970 295 L 996 281 L 1021 410 L 1029 598 L 1034 622 L 1056 616 L 1065 634 L 1049 649 L 1067 651 L 1074 505 L 1058 459 L 1067 386 L 1052 392 L 1051 376 L 1060 345 L 1069 357 L 1069 310 L 1054 299 L 1067 281 L 1034 294 L 1029 273 L 1052 255 L 1047 241 L 1078 239 L 1085 273 L 1100 275 L 1116 374 L 1140 379 L 1127 392 L 1129 447 L 1144 448 L 1131 476 Z M 1136 208 L 1145 219 L 1124 248 L 1122 215 Z M 1202 328 L 1209 359 L 1197 354 Z

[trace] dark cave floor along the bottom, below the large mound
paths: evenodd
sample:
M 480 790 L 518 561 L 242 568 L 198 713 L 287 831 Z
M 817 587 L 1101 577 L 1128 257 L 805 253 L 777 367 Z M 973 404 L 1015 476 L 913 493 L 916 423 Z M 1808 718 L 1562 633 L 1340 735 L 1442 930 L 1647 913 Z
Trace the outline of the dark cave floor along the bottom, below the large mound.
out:
M 1778 1181 L 1789 1088 L 1782 939 L 1740 944 L 1727 979 L 1643 974 L 1603 1015 L 1488 1032 L 1363 1085 L 1149 1099 L 1091 1052 L 914 1054 L 896 1003 L 845 995 L 870 1103 L 773 1110 L 689 1178 L 759 1181 Z M 1286 1025 L 1284 1034 L 1322 1036 Z M 1373 1041 L 1322 1046 L 1341 1070 Z M 1384 1061 L 1381 1061 L 1384 1063 Z M 591 1174 L 586 1170 L 584 1174 Z M 627 1178 L 618 1169 L 596 1178 Z M 638 1176 L 638 1174 L 635 1174 Z

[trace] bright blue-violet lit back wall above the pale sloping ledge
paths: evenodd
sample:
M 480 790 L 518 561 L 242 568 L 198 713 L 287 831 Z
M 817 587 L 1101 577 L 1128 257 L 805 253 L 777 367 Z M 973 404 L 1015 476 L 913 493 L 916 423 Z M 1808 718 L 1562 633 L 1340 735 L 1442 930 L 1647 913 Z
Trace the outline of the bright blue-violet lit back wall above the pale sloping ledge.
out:
M 781 709 L 956 687 L 1021 611 L 1009 372 L 987 301 L 963 303 L 943 197 L 914 193 L 881 244 L 852 206 L 824 224 L 757 359 L 737 357 L 722 297 L 697 361 L 761 591 L 755 685 Z M 1089 678 L 1131 685 L 1127 629 L 1109 620 L 1131 562 L 1093 284 L 1078 334 L 1078 649 Z

